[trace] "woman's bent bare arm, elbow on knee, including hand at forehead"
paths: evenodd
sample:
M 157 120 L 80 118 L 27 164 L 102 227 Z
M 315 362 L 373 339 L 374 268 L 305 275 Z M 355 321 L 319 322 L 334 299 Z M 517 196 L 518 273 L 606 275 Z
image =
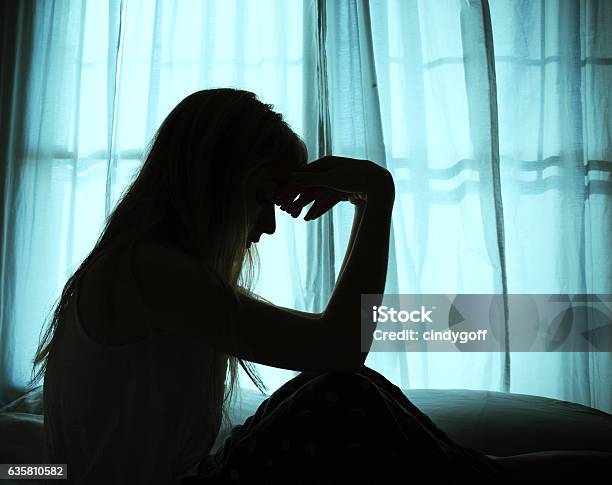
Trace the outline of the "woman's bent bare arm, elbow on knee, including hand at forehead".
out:
M 333 170 L 317 183 L 367 200 L 323 313 L 234 294 L 187 254 L 153 242 L 137 245 L 134 254 L 141 293 L 133 299 L 135 313 L 153 330 L 204 336 L 216 350 L 251 362 L 297 371 L 359 368 L 367 356 L 360 352 L 361 294 L 384 291 L 395 189 L 391 175 L 372 162 L 330 163 Z

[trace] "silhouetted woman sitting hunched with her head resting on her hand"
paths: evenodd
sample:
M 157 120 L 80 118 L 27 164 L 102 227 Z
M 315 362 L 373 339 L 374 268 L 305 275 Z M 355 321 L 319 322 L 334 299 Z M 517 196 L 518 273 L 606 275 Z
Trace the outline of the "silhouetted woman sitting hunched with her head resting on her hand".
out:
M 195 92 L 164 120 L 34 361 L 48 460 L 68 465 L 68 483 L 505 480 L 364 365 L 359 302 L 384 292 L 389 172 L 306 162 L 304 143 L 247 91 Z M 252 243 L 274 233 L 275 205 L 297 217 L 313 203 L 313 220 L 340 201 L 355 216 L 325 311 L 255 295 Z M 250 362 L 300 374 L 209 454 L 238 364 L 263 389 Z

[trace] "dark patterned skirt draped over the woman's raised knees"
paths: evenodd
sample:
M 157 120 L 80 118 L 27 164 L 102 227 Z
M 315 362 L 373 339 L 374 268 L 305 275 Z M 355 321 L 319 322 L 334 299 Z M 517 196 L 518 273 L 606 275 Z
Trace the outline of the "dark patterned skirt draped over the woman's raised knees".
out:
M 493 458 L 453 442 L 369 367 L 303 372 L 234 426 L 188 484 L 505 483 Z

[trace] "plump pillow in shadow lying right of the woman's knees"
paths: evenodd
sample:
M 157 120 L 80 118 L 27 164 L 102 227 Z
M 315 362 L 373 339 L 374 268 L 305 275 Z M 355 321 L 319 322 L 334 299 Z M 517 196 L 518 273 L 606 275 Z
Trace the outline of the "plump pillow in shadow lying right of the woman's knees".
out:
M 548 450 L 612 452 L 612 415 L 588 406 L 470 389 L 404 392 L 452 440 L 487 455 Z

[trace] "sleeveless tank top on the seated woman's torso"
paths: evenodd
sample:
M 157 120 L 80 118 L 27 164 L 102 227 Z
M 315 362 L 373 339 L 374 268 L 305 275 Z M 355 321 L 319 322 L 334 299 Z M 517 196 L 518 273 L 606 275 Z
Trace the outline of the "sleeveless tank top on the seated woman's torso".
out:
M 131 261 L 131 248 L 127 254 Z M 210 402 L 207 390 L 216 386 L 223 395 L 227 355 L 203 336 L 167 332 L 97 343 L 79 319 L 78 280 L 43 384 L 48 463 L 66 463 L 71 484 L 178 485 L 215 442 L 221 403 Z

